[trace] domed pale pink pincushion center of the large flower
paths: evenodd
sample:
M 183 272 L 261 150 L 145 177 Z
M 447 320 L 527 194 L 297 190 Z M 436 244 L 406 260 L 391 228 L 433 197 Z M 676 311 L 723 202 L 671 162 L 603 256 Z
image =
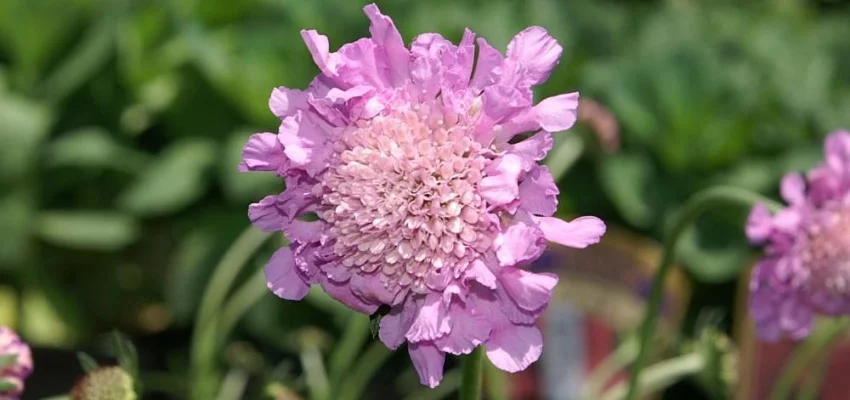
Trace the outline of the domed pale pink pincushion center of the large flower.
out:
M 487 159 L 469 127 L 437 105 L 402 105 L 345 132 L 322 206 L 343 266 L 425 293 L 492 243 L 477 193 Z

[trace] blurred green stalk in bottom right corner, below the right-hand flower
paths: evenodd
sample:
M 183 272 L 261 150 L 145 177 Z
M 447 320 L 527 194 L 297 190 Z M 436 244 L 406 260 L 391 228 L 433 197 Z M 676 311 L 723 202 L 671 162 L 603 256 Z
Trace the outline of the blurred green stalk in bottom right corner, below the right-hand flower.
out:
M 791 360 L 782 369 L 782 373 L 770 391 L 770 399 L 786 399 L 809 361 L 829 350 L 848 327 L 850 327 L 850 320 L 847 319 L 823 321 L 815 333 L 791 355 Z

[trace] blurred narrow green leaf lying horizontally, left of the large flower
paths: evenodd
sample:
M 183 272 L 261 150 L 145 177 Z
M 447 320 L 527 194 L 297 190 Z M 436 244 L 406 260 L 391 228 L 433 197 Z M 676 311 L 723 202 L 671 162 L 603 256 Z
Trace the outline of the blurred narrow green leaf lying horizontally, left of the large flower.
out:
M 47 242 L 88 250 L 118 250 L 139 236 L 132 217 L 111 212 L 47 211 L 38 216 L 36 230 Z

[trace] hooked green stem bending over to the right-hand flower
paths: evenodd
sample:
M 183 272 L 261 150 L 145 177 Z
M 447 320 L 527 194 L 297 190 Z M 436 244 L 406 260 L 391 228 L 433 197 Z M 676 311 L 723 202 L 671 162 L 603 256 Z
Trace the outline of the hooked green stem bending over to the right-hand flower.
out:
M 715 206 L 752 206 L 757 203 L 765 204 L 773 211 L 781 208 L 781 205 L 759 194 L 745 189 L 721 186 L 709 188 L 695 194 L 685 204 L 684 209 L 674 218 L 672 229 L 664 241 L 661 262 L 655 271 L 652 292 L 641 323 L 640 348 L 629 377 L 627 400 L 635 400 L 638 395 L 638 382 L 640 380 L 641 370 L 644 364 L 646 364 L 650 342 L 655 335 L 655 326 L 658 322 L 659 305 L 661 304 L 661 298 L 664 293 L 664 281 L 673 267 L 673 260 L 676 258 L 676 245 L 682 233 L 685 232 L 698 216 Z

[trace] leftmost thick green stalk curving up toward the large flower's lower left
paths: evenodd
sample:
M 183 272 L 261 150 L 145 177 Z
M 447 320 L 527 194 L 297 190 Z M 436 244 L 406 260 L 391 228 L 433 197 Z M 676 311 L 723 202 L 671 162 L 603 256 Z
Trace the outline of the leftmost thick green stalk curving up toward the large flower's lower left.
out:
M 216 265 L 213 276 L 198 307 L 195 329 L 190 348 L 191 398 L 208 400 L 214 398 L 216 378 L 216 344 L 218 320 L 216 313 L 221 309 L 230 286 L 242 267 L 271 235 L 249 226 L 227 249 Z

